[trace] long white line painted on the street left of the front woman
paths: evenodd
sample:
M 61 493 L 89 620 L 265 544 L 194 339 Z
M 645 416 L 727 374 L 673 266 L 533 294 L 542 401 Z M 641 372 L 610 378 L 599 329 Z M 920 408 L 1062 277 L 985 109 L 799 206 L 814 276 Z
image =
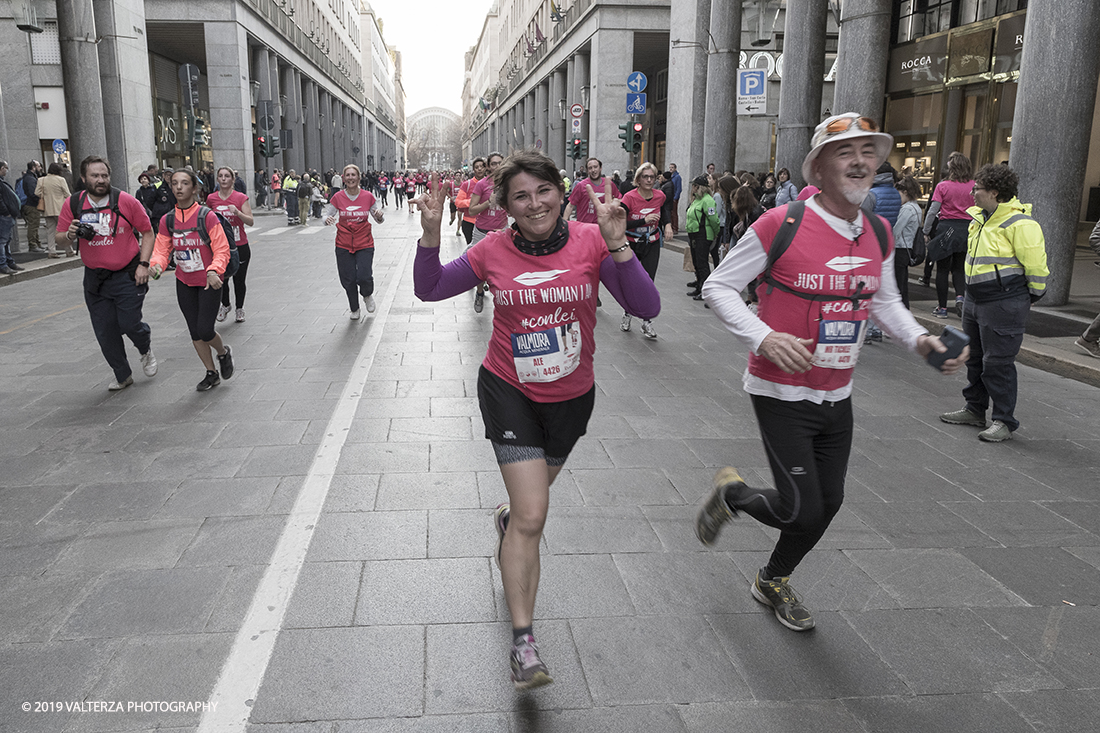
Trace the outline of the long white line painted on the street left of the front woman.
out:
M 298 573 L 306 561 L 306 551 L 309 549 L 321 508 L 324 506 L 324 499 L 328 496 L 340 460 L 340 451 L 348 438 L 360 395 L 363 394 L 366 376 L 374 363 L 374 354 L 378 350 L 389 309 L 397 295 L 398 283 L 402 275 L 408 271 L 409 260 L 416 251 L 416 247 L 411 243 L 406 244 L 404 249 L 397 272 L 393 281 L 387 284 L 386 295 L 373 316 L 374 322 L 371 325 L 370 333 L 363 348 L 360 349 L 355 365 L 352 366 L 348 383 L 329 419 L 324 439 L 314 453 L 309 473 L 283 527 L 271 564 L 260 580 L 249 613 L 237 633 L 237 638 L 233 639 L 233 647 L 210 693 L 211 705 L 202 715 L 199 733 L 244 733 L 248 726 L 252 705 L 283 626 L 283 616 L 294 594 Z

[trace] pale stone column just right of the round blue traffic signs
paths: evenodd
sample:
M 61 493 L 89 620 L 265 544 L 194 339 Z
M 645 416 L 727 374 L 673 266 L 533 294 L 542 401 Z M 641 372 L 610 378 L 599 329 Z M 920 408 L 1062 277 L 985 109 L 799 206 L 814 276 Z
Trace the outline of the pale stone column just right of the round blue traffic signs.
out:
M 802 2 L 820 0 L 802 0 Z M 821 3 L 824 8 L 824 3 Z M 790 11 L 788 11 L 790 14 Z M 705 171 L 703 161 L 703 136 L 706 108 L 707 50 L 711 48 L 711 0 L 681 0 L 672 3 L 670 35 L 673 43 L 669 48 L 669 105 L 666 132 L 666 167 L 675 163 L 683 179 L 680 196 L 680 214 L 688 209 L 689 182 Z M 824 43 L 824 30 L 822 31 Z M 787 41 L 784 50 L 792 50 Z M 818 78 L 818 83 L 821 79 Z M 818 90 L 818 96 L 821 91 Z M 726 96 L 728 105 L 728 92 Z

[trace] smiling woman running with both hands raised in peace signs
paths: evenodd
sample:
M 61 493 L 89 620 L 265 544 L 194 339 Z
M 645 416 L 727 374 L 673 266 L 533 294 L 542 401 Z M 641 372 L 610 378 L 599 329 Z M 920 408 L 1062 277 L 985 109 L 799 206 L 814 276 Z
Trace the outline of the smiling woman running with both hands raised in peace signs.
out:
M 494 512 L 494 556 L 512 615 L 512 680 L 522 690 L 552 681 L 534 630 L 539 538 L 550 486 L 584 435 L 595 402 L 596 293 L 603 283 L 646 318 L 658 314 L 660 296 L 627 244 L 626 211 L 617 201 L 590 194 L 600 223 L 566 222 L 560 217 L 561 176 L 553 161 L 532 151 L 510 155 L 496 177 L 496 194 L 515 226 L 488 233 L 444 266 L 444 195 L 433 178 L 429 194 L 417 199 L 422 236 L 414 282 L 417 297 L 428 302 L 482 281 L 494 288 L 493 335 L 477 398 L 508 492 L 508 502 Z

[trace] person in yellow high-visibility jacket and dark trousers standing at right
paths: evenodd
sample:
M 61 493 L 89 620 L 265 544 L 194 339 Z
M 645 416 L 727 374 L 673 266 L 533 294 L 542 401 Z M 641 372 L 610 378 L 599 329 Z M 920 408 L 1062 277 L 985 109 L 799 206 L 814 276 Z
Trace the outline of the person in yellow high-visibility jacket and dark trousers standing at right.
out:
M 952 425 L 983 428 L 978 438 L 1001 442 L 1020 427 L 1016 408 L 1016 354 L 1033 303 L 1046 294 L 1046 242 L 1031 217 L 1031 204 L 1016 198 L 1020 178 L 1007 165 L 986 165 L 974 178 L 975 206 L 966 251 L 963 332 L 970 337 L 966 362 L 966 406 L 939 416 Z M 986 411 L 992 402 L 992 423 Z

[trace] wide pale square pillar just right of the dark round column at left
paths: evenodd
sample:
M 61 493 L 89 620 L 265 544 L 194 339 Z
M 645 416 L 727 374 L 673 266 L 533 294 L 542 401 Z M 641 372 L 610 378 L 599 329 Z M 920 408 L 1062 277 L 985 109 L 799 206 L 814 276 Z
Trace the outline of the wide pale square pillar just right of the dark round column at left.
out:
M 111 178 L 123 190 L 131 190 L 138 175 L 156 157 L 156 133 L 148 106 L 148 48 L 144 32 L 139 35 L 133 30 L 145 28 L 145 4 L 141 0 L 116 0 L 97 2 L 95 9 Z

